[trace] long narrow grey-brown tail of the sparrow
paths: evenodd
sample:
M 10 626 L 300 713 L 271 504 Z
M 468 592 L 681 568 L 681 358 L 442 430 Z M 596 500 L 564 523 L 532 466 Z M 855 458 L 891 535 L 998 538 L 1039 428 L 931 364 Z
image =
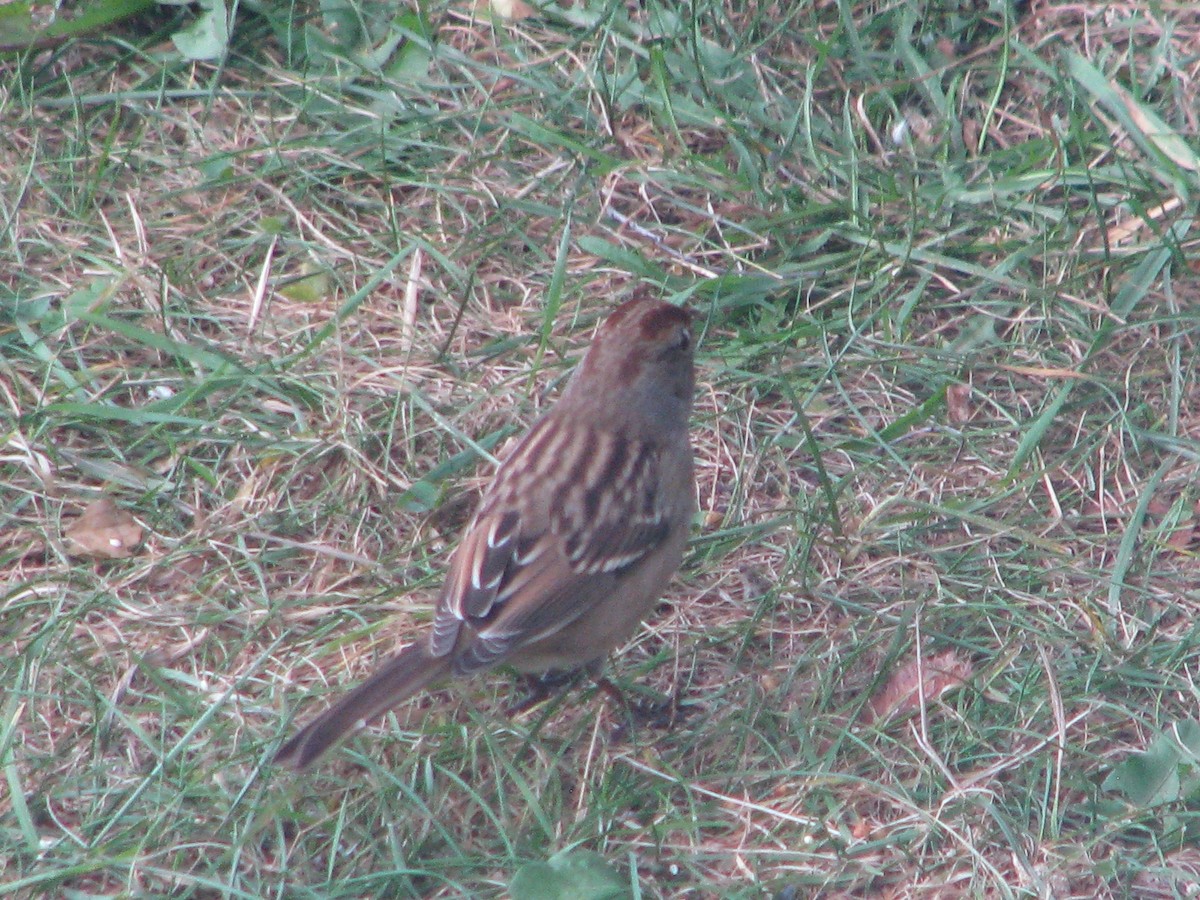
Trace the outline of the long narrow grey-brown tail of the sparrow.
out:
M 275 754 L 275 762 L 304 772 L 368 722 L 401 703 L 430 682 L 450 673 L 450 660 L 433 656 L 425 641 L 406 647 L 362 684 L 304 726 Z

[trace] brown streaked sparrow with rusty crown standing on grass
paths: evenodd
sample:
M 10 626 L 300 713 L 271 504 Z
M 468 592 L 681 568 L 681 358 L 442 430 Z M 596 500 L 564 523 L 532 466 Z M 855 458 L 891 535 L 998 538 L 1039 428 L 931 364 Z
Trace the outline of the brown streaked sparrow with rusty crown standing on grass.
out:
M 696 511 L 695 311 L 635 295 L 497 467 L 428 632 L 275 755 L 296 772 L 431 683 L 602 670 L 678 570 Z

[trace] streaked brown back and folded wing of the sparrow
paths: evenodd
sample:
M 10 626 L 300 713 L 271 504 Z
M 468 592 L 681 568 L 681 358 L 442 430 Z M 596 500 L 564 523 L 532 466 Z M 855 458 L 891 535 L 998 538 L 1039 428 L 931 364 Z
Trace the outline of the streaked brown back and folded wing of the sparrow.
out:
M 457 647 L 458 671 L 575 622 L 667 536 L 652 448 L 594 430 L 571 436 L 552 421 L 500 466 L 450 564 L 430 648 L 442 656 Z M 460 644 L 463 624 L 472 634 Z

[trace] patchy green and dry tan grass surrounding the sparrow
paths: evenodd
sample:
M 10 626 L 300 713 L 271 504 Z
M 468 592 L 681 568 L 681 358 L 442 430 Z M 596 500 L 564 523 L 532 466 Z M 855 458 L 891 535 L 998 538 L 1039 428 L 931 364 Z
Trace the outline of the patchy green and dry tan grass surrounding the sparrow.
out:
M 0 64 L 0 894 L 1196 892 L 1190 5 L 176 12 Z M 640 283 L 702 512 L 613 671 L 692 714 L 497 673 L 275 770 Z

